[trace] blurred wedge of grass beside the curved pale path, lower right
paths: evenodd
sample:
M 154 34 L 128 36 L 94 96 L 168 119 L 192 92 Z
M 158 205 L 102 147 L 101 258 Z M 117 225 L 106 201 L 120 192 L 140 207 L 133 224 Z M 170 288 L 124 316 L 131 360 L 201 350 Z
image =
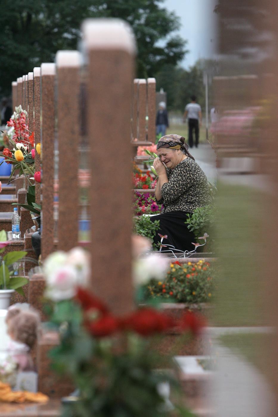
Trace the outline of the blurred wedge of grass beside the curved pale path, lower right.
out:
M 219 337 L 219 342 L 233 350 L 235 354 L 242 355 L 245 359 L 265 373 L 274 364 L 270 355 L 267 354 L 266 346 L 273 344 L 274 335 L 268 333 L 238 333 L 225 334 Z

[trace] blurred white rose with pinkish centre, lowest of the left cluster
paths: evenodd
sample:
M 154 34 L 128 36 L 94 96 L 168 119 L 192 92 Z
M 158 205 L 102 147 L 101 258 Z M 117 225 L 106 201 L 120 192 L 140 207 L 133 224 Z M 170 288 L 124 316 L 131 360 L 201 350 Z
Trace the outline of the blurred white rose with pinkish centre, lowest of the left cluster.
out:
M 70 265 L 61 266 L 48 275 L 46 296 L 53 301 L 71 299 L 76 294 L 78 272 Z

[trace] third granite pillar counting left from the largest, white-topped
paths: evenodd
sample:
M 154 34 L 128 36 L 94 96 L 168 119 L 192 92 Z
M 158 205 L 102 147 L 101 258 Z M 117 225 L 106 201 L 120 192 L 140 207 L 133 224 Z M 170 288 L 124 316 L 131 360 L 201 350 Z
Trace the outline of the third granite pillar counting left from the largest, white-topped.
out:
M 43 194 L 43 228 L 42 228 L 42 259 L 53 251 L 53 188 L 54 188 L 54 83 L 55 64 L 43 63 L 41 70 L 41 114 L 42 114 L 42 194 Z M 43 158 L 43 153 L 45 158 Z

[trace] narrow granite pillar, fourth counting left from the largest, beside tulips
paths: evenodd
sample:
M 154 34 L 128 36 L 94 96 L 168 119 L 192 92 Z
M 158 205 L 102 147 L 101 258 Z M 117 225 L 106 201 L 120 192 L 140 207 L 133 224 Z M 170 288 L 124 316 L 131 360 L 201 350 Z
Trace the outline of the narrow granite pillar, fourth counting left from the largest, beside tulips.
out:
M 35 146 L 40 143 L 40 67 L 33 70 L 34 78 L 34 138 Z M 40 156 L 35 153 L 35 172 L 40 171 Z M 36 203 L 40 204 L 40 184 L 35 183 Z

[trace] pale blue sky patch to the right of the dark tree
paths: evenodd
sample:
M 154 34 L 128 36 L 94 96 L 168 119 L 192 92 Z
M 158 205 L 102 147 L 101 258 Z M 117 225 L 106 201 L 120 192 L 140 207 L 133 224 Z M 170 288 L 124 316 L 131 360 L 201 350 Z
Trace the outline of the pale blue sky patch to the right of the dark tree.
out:
M 213 9 L 217 0 L 165 0 L 162 7 L 174 11 L 181 20 L 179 35 L 188 40 L 182 67 L 194 65 L 199 58 L 212 58 L 215 49 L 216 15 Z

